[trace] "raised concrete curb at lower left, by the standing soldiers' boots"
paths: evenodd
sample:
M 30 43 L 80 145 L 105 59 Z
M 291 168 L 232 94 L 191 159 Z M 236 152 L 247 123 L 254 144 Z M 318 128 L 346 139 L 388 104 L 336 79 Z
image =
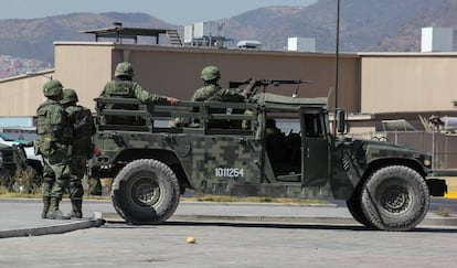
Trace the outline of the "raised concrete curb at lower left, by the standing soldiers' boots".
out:
M 0 238 L 63 234 L 76 229 L 99 227 L 105 223 L 102 213 L 94 213 L 94 217 L 77 222 L 56 224 L 52 226 L 0 231 Z

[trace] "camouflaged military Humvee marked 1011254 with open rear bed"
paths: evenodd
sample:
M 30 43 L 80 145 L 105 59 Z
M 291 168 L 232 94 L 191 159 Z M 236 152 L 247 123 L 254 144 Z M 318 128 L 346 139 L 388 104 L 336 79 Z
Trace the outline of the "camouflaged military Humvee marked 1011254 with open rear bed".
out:
M 256 86 L 264 90 L 255 90 L 247 103 L 159 106 L 97 98 L 91 171 L 114 178 L 118 214 L 131 224 L 160 224 L 190 189 L 236 196 L 334 197 L 344 200 L 368 227 L 406 231 L 422 222 L 431 195 L 445 194 L 445 181 L 428 178 L 429 154 L 347 138 L 344 112 L 329 111 L 327 98 L 270 94 L 265 88 L 275 82 L 259 82 Z M 137 109 L 105 108 L 115 104 Z M 128 124 L 110 124 L 119 116 Z M 176 118 L 183 124 L 169 127 Z

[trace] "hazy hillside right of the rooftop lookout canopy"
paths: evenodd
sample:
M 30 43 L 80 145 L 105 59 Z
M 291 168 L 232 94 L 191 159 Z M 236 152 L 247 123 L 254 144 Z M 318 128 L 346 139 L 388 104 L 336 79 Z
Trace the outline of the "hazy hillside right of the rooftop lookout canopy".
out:
M 256 39 L 267 49 L 287 46 L 287 37 L 315 37 L 317 51 L 336 46 L 337 1 L 307 8 L 268 7 L 226 20 L 235 40 Z M 456 0 L 341 0 L 340 51 L 410 52 L 421 50 L 423 26 L 457 29 Z M 457 37 L 457 36 L 455 36 Z

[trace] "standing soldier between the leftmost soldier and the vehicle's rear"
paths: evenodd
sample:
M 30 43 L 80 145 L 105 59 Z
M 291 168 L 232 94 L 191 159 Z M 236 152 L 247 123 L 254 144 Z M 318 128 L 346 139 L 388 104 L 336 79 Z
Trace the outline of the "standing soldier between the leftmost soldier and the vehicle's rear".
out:
M 76 105 L 77 101 L 77 94 L 74 89 L 65 88 L 63 90 L 61 104 L 68 115 L 73 137 L 77 137 L 72 139 L 72 157 L 70 159 L 72 179 L 70 180 L 68 192 L 73 208 L 71 217 L 82 218 L 84 195 L 82 180 L 87 170 L 87 160 L 93 157 L 94 152 L 92 136 L 95 133 L 95 125 L 91 109 Z

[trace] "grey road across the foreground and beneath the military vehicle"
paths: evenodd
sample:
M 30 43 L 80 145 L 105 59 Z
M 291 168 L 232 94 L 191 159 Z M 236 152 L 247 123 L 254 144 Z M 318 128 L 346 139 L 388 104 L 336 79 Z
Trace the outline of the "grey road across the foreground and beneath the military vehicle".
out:
M 88 202 L 86 210 L 111 210 L 108 205 Z M 273 217 L 300 211 L 301 216 L 347 217 L 346 208 L 339 206 L 262 204 L 183 203 L 177 214 L 190 216 L 195 211 L 215 216 L 236 213 Z M 196 243 L 187 243 L 189 236 Z M 422 225 L 394 233 L 346 222 L 199 222 L 174 217 L 159 226 L 131 226 L 113 221 L 57 235 L 2 238 L 0 267 L 453 267 L 457 261 L 456 240 L 457 226 Z

